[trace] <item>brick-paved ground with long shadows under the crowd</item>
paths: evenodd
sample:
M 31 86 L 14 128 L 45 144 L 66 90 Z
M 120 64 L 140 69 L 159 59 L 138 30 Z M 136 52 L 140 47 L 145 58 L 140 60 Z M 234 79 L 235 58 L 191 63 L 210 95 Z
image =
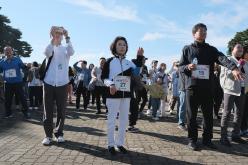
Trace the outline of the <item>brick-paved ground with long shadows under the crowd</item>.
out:
M 0 114 L 3 107 L 0 105 Z M 138 133 L 127 133 L 129 154 L 111 157 L 107 150 L 106 117 L 95 115 L 95 107 L 75 111 L 68 106 L 65 122 L 66 143 L 41 144 L 44 137 L 42 111 L 32 111 L 25 121 L 15 111 L 15 118 L 0 119 L 0 165 L 4 164 L 248 164 L 248 145 L 233 144 L 232 148 L 219 143 L 219 121 L 215 121 L 214 143 L 218 150 L 202 148 L 190 151 L 186 147 L 186 132 L 177 129 L 175 116 L 158 122 L 144 117 L 138 121 Z M 201 135 L 201 131 L 199 135 Z M 201 139 L 199 139 L 201 140 Z M 248 140 L 246 138 L 246 140 Z

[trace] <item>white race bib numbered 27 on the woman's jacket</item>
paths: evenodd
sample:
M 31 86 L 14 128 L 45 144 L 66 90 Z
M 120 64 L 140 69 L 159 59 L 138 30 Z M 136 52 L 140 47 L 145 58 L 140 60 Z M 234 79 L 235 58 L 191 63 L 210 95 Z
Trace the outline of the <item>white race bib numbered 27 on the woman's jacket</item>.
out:
M 118 91 L 130 92 L 131 80 L 129 76 L 116 76 L 114 83 Z

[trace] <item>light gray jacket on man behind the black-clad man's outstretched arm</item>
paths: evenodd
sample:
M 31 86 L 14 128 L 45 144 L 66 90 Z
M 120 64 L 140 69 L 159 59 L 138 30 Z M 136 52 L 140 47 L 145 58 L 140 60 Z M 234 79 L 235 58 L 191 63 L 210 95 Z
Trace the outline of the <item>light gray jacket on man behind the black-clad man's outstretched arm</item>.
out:
M 229 60 L 238 65 L 238 60 L 235 57 L 231 56 Z M 241 81 L 235 80 L 232 71 L 223 66 L 221 66 L 220 85 L 226 94 L 241 95 Z

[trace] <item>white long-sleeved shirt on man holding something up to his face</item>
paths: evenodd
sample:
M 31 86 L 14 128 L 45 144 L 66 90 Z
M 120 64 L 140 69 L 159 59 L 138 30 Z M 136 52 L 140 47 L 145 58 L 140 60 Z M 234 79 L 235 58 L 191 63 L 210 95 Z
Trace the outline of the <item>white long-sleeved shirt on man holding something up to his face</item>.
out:
M 70 56 L 74 54 L 74 50 L 70 42 L 66 46 L 49 44 L 45 50 L 46 57 L 51 57 L 53 51 L 53 58 L 44 82 L 56 87 L 63 86 L 69 83 L 69 60 Z

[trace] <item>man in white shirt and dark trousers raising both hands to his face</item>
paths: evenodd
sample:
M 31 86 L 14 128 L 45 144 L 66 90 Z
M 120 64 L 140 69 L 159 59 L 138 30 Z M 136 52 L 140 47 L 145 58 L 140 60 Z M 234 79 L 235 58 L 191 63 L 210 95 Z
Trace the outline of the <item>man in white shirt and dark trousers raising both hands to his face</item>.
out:
M 63 35 L 66 45 L 62 45 Z M 67 86 L 69 83 L 68 68 L 70 57 L 74 54 L 68 32 L 63 27 L 51 28 L 51 43 L 46 47 L 45 56 L 51 58 L 51 63 L 44 78 L 44 115 L 43 123 L 46 137 L 43 145 L 49 145 L 53 137 L 53 111 L 56 103 L 57 120 L 55 124 L 55 140 L 58 143 L 65 142 L 64 122 L 67 102 Z

